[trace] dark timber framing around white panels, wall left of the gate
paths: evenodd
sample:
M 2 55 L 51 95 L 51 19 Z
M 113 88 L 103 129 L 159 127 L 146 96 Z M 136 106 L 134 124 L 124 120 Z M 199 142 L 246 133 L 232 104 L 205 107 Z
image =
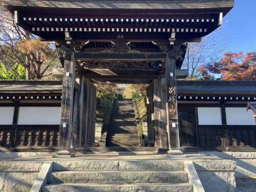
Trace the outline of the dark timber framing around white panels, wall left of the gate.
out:
M 19 96 L 11 96 L 19 98 Z M 25 96 L 24 96 L 25 97 Z M 18 124 L 20 107 L 60 107 L 61 96 L 26 96 L 26 101 L 13 100 L 0 102 L 0 107 L 14 107 L 13 121 L 9 125 L 0 125 L 0 151 L 56 151 L 59 142 L 59 124 Z M 51 99 L 49 99 L 49 97 Z

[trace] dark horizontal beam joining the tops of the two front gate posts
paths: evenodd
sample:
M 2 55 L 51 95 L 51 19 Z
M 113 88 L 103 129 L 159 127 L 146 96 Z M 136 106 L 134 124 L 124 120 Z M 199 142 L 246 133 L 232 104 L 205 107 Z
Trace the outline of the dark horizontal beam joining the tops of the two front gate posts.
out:
M 166 53 L 75 53 L 76 60 L 85 61 L 164 61 Z

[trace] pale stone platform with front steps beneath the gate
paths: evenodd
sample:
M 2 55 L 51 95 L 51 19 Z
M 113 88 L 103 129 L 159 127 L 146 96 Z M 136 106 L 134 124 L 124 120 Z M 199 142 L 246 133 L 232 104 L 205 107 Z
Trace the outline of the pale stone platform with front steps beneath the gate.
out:
M 61 186 L 66 187 L 64 191 L 66 189 L 67 191 L 73 189 L 82 191 L 84 187 L 88 191 L 104 191 L 103 188 L 106 189 L 105 191 L 136 191 L 138 188 L 144 191 L 167 191 L 167 189 L 179 191 L 182 187 L 184 191 L 193 191 L 191 186 L 194 188 L 197 186 L 190 181 L 193 172 L 187 165 L 189 162 L 195 168 L 196 174 L 194 175 L 197 175 L 205 191 L 236 191 L 234 177 L 236 162 L 210 154 L 190 153 L 172 156 L 147 154 L 146 152 L 76 153 L 76 157 L 70 159 L 52 158 L 52 155 L 50 153 L 0 153 L 0 191 L 29 191 L 38 173 L 43 171 L 44 163 L 53 164 L 51 170 L 53 173 L 46 174 L 48 175 L 48 188 L 44 188 L 44 191 L 61 191 L 62 189 L 59 188 Z M 118 183 L 122 182 L 120 178 L 126 178 L 123 182 L 132 182 L 132 184 L 122 185 L 124 188 L 119 188 Z M 106 186 L 101 186 L 103 187 L 101 190 L 95 189 L 93 185 L 82 184 L 88 180 L 96 183 L 102 182 Z M 55 181 L 58 181 L 57 185 L 53 184 Z M 116 187 L 113 188 L 114 185 L 110 187 L 108 182 L 112 184 L 115 182 Z M 148 188 L 145 183 L 150 183 L 152 187 Z M 156 183 L 163 184 L 156 185 Z

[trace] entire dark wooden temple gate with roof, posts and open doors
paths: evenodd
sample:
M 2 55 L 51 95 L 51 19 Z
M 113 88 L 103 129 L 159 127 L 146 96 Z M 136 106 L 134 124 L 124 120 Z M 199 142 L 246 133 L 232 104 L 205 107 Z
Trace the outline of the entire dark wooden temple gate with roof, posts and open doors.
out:
M 58 154 L 93 146 L 95 82 L 150 84 L 149 146 L 181 154 L 176 80 L 188 75 L 181 70 L 187 42 L 200 42 L 222 25 L 233 0 L 6 0 L 5 5 L 17 25 L 55 41 L 59 50 L 64 70 Z

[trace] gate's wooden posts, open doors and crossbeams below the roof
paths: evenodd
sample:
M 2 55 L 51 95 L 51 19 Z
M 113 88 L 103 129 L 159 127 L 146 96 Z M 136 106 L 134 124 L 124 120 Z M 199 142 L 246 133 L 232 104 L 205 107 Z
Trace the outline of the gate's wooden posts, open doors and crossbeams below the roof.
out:
M 168 44 L 166 43 L 166 47 L 167 46 Z M 94 78 L 93 80 L 85 78 L 82 75 L 85 71 L 81 69 L 80 63 L 90 62 L 90 66 L 88 67 L 90 67 L 91 70 L 97 69 L 98 72 L 107 73 L 112 69 L 111 67 L 110 69 L 99 68 L 99 65 L 93 67 L 92 62 L 111 61 L 115 63 L 117 60 L 118 62 L 123 61 L 123 63 L 129 62 L 130 65 L 132 65 L 132 72 L 135 73 L 135 76 L 130 77 L 132 79 L 131 82 L 146 83 L 152 81 L 147 90 L 148 133 L 150 136 L 148 146 L 166 148 L 168 147 L 168 143 L 170 143 L 169 148 L 177 153 L 180 150 L 180 144 L 176 99 L 176 61 L 181 58 L 185 46 L 186 45 L 178 47 L 169 46 L 170 51 L 167 53 L 75 53 L 70 49 L 66 49 L 64 54 L 65 62 L 61 100 L 59 154 L 69 153 L 71 147 L 94 146 L 96 88 L 91 81 L 100 79 L 100 76 L 91 77 Z M 113 47 L 115 47 L 115 45 Z M 127 50 L 130 50 L 128 46 L 126 48 Z M 153 76 L 144 75 L 144 77 L 137 79 L 140 74 L 136 75 L 136 72 L 141 71 L 141 69 L 136 69 L 136 67 L 138 67 L 137 62 L 140 62 L 139 65 L 143 62 L 147 63 L 145 66 L 148 68 L 148 63 L 153 61 L 155 62 L 155 65 L 161 66 L 154 67 L 159 73 Z M 164 68 L 164 66 L 170 65 L 174 67 L 168 69 Z M 163 74 L 163 72 L 165 73 Z M 179 72 L 184 75 L 184 71 L 179 70 Z M 105 78 L 105 76 L 103 76 L 103 78 Z M 125 75 L 119 75 L 118 79 L 115 78 L 114 75 L 108 76 L 108 80 L 110 81 L 113 80 L 113 78 L 115 82 L 130 82 L 129 76 L 127 77 Z M 166 98 L 168 99 L 166 100 Z M 169 126 L 170 124 L 171 127 Z M 170 129 L 168 129 L 168 127 L 170 127 Z M 168 142 L 170 140 L 172 140 L 173 143 Z

